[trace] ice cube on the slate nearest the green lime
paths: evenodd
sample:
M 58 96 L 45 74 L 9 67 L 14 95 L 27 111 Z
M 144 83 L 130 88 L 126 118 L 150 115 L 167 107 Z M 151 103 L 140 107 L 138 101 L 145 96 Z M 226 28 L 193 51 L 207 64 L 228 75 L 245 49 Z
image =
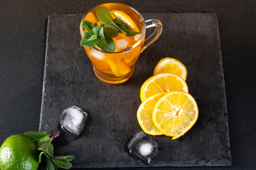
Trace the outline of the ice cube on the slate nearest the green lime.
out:
M 62 129 L 72 136 L 79 136 L 84 130 L 88 114 L 78 108 L 71 106 L 62 112 L 60 124 Z

